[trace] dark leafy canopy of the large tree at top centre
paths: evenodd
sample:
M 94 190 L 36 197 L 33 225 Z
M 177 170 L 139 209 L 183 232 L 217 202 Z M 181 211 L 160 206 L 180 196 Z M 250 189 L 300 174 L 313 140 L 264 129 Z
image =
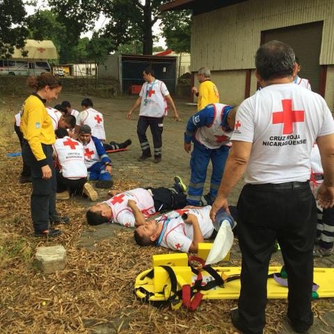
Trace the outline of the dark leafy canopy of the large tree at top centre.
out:
M 158 20 L 159 7 L 168 1 L 170 0 L 49 0 L 49 5 L 58 13 L 61 22 L 67 26 L 67 22 L 74 20 L 75 29 L 80 29 L 81 32 L 90 30 L 101 14 L 107 17 L 109 22 L 99 31 L 99 35 L 111 40 L 109 52 L 117 51 L 120 45 L 129 45 L 133 40 L 141 40 L 143 54 L 152 54 L 152 27 Z M 182 22 L 182 15 L 178 19 Z M 174 22 L 176 26 L 180 23 L 177 20 Z M 174 39 L 177 38 L 175 33 L 173 36 Z

